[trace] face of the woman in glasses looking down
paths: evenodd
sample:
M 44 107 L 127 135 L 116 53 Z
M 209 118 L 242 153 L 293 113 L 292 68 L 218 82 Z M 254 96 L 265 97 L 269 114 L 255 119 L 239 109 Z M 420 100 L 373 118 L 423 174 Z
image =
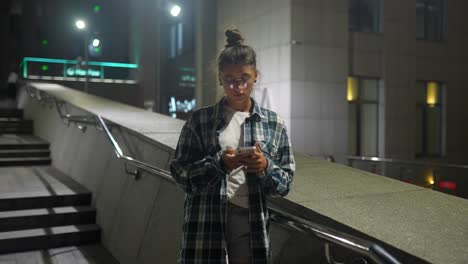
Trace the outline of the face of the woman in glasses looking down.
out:
M 244 111 L 243 108 L 247 106 L 250 107 L 250 94 L 252 94 L 257 75 L 255 67 L 250 65 L 233 64 L 224 67 L 219 74 L 219 79 L 229 106 L 239 111 Z

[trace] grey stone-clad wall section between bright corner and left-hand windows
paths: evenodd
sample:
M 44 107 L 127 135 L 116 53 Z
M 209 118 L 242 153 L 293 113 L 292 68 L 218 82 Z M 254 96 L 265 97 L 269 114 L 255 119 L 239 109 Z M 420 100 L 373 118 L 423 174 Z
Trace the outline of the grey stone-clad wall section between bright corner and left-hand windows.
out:
M 347 154 L 347 1 L 292 1 L 291 138 L 314 156 Z

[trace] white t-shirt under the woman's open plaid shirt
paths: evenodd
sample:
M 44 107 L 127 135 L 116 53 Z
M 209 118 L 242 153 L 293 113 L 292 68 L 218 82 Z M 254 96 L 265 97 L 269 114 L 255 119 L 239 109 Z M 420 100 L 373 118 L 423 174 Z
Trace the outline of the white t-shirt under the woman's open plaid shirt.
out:
M 249 112 L 240 112 L 228 106 L 225 107 L 224 118 L 227 126 L 219 135 L 219 144 L 223 150 L 228 147 L 237 149 L 244 146 L 244 122 L 249 116 Z M 242 167 L 229 173 L 227 195 L 231 203 L 244 208 L 249 207 L 249 189 Z

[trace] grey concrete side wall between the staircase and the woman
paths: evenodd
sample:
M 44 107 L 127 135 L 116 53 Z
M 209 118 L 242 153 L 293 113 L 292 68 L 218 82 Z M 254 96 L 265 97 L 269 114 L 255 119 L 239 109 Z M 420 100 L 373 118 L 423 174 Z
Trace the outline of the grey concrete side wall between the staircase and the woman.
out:
M 70 108 L 76 115 L 86 112 Z M 151 175 L 134 181 L 113 153 L 104 133 L 66 126 L 54 107 L 28 101 L 25 117 L 35 134 L 51 143 L 53 166 L 93 192 L 102 244 L 122 264 L 175 263 L 183 219 L 183 193 Z M 172 150 L 128 131 L 113 129 L 124 153 L 167 169 Z M 129 147 L 130 146 L 130 147 Z

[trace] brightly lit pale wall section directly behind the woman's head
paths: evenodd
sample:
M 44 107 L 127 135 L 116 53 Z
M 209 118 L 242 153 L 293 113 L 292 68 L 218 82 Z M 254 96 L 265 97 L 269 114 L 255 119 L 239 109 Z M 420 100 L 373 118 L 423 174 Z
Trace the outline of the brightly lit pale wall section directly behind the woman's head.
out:
M 254 97 L 276 111 L 291 129 L 291 4 L 283 0 L 218 2 L 218 50 L 225 44 L 224 31 L 236 26 L 246 44 L 257 52 L 260 78 Z M 224 91 L 218 89 L 218 97 Z M 270 100 L 263 100 L 264 93 Z M 266 97 L 265 97 L 266 98 Z

